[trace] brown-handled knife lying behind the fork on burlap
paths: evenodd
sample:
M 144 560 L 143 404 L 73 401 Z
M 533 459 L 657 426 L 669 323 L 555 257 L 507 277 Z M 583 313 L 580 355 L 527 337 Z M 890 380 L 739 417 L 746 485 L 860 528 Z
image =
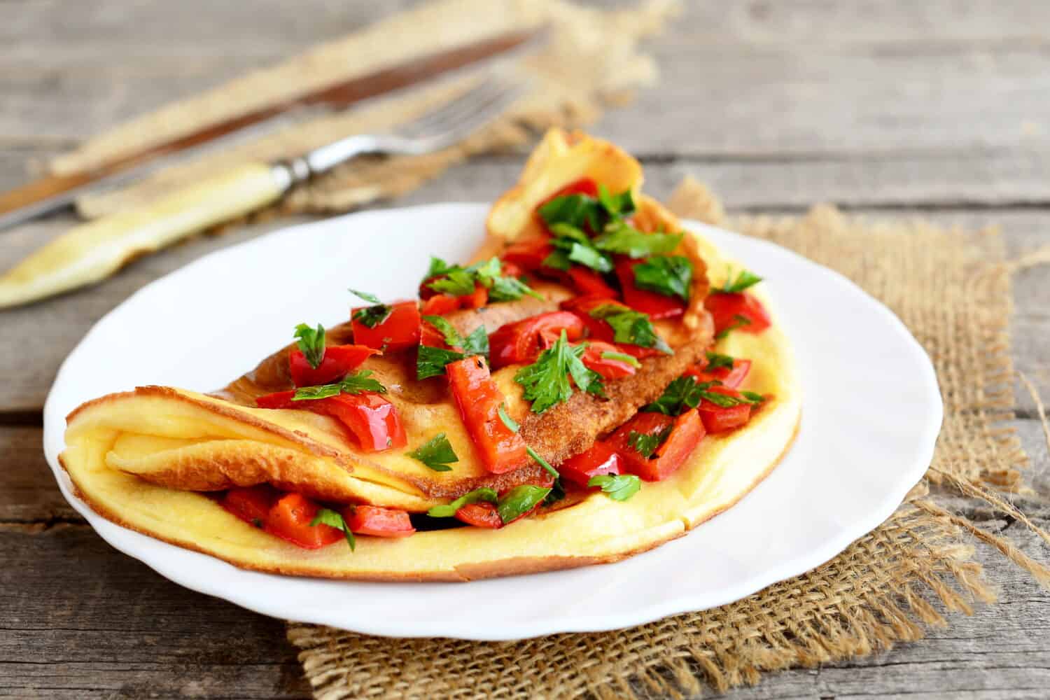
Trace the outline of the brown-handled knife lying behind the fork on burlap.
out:
M 0 194 L 0 230 L 71 205 L 77 197 L 92 188 L 113 185 L 156 168 L 159 161 L 176 153 L 186 153 L 216 140 L 237 135 L 249 127 L 258 128 L 278 122 L 281 115 L 302 108 L 327 107 L 342 109 L 355 102 L 401 89 L 445 72 L 507 54 L 542 34 L 529 29 L 502 34 L 483 41 L 429 54 L 411 61 L 327 85 L 312 92 L 298 94 L 277 104 L 214 122 L 191 133 L 139 152 L 109 161 L 90 171 L 49 175 Z

